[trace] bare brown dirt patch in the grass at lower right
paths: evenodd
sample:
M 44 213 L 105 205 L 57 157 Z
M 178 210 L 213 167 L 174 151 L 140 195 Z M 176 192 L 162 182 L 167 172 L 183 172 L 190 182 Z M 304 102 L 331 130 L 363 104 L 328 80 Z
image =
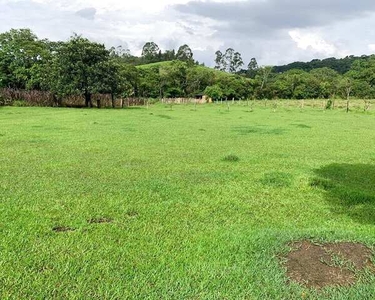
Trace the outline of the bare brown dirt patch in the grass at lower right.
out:
M 306 287 L 349 286 L 357 281 L 357 273 L 369 268 L 372 251 L 359 243 L 314 244 L 310 241 L 291 245 L 295 250 L 285 258 L 290 280 Z

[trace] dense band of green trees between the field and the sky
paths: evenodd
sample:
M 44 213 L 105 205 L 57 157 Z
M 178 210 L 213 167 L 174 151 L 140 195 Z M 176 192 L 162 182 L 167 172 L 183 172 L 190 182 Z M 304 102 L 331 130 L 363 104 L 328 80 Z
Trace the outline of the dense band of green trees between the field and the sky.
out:
M 218 50 L 215 68 L 194 60 L 188 45 L 161 51 L 154 42 L 142 55 L 74 35 L 68 41 L 39 39 L 29 29 L 0 34 L 0 88 L 48 91 L 59 99 L 93 94 L 175 98 L 312 99 L 375 97 L 375 56 L 329 58 L 286 66 L 245 65 L 232 48 Z M 246 66 L 246 68 L 244 68 Z

